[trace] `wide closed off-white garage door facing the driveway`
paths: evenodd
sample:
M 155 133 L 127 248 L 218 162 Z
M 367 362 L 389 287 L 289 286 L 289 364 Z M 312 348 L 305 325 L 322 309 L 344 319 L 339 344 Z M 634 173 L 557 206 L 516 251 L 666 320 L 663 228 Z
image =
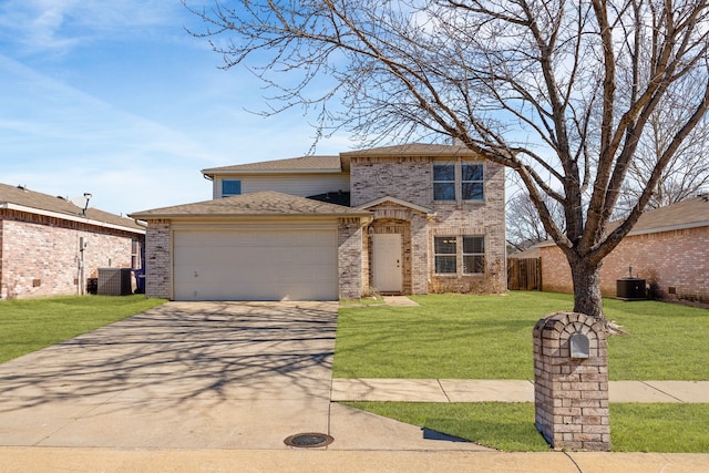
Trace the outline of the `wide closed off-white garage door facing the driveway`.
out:
M 176 230 L 175 300 L 337 300 L 336 230 Z

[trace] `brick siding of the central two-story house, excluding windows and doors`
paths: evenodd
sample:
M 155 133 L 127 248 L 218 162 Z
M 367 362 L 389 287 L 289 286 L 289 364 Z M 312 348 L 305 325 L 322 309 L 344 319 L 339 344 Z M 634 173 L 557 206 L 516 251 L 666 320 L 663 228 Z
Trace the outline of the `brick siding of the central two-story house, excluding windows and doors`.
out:
M 381 220 L 372 223 L 372 232 L 390 228 L 402 235 L 404 291 L 427 294 L 435 286 L 433 275 L 433 235 L 454 232 L 467 235 L 474 229 L 485 236 L 485 276 L 464 276 L 455 280 L 454 290 L 467 292 L 503 292 L 506 290 L 504 167 L 485 162 L 485 202 L 461 206 L 434 204 L 433 157 L 362 157 L 350 164 L 351 206 L 357 207 L 384 196 L 411 203 L 435 212 L 425 212 L 388 203 L 373 208 L 381 210 Z M 381 178 L 386 175 L 387 178 Z M 388 212 L 400 212 L 392 217 Z M 359 298 L 370 289 L 371 260 L 369 228 L 340 220 L 338 229 L 339 296 Z M 172 297 L 169 222 L 151 220 L 146 246 L 146 295 Z M 448 279 L 451 281 L 451 279 Z M 439 287 L 439 286 L 435 286 Z

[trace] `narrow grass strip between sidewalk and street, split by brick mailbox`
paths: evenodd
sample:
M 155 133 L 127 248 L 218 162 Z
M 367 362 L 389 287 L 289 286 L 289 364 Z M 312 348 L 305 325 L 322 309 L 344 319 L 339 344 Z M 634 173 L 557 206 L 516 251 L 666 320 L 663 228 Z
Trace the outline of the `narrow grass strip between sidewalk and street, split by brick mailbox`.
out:
M 507 452 L 549 448 L 532 403 L 348 402 L 347 405 Z M 614 452 L 709 452 L 709 404 L 610 404 Z

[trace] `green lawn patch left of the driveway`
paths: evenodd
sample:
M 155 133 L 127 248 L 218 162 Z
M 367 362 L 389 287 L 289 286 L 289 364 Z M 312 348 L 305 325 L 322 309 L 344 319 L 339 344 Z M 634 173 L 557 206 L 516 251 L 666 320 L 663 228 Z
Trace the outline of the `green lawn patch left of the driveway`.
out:
M 165 302 L 134 295 L 0 301 L 0 362 L 68 340 Z

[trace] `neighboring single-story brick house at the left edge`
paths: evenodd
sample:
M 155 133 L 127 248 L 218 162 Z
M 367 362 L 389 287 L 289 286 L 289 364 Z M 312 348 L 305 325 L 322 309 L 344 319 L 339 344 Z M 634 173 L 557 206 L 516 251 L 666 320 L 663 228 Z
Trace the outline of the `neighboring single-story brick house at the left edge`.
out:
M 97 268 L 140 267 L 144 239 L 130 218 L 0 184 L 0 299 L 85 294 Z

